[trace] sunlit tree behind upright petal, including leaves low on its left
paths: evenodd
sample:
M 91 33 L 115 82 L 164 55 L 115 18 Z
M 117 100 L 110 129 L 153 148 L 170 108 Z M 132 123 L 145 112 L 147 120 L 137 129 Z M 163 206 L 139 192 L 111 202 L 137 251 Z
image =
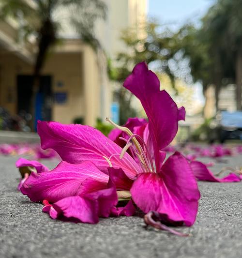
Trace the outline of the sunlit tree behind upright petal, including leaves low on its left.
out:
M 161 28 L 156 23 L 143 25 L 144 35 L 137 37 L 133 28 L 123 31 L 121 40 L 126 46 L 127 51 L 121 52 L 117 56 L 116 67 L 109 61 L 108 74 L 110 79 L 123 83 L 124 79 L 130 75 L 136 63 L 146 61 L 147 64 L 156 63 L 156 68 L 161 73 L 166 73 L 173 88 L 175 89 L 176 71 L 171 67 L 171 61 L 177 62 L 176 55 L 179 51 L 176 43 L 177 38 L 170 30 Z M 176 90 L 176 89 L 175 89 Z M 131 106 L 133 95 L 120 87 L 117 91 L 120 103 L 120 123 L 126 122 L 127 118 L 137 116 L 136 109 Z

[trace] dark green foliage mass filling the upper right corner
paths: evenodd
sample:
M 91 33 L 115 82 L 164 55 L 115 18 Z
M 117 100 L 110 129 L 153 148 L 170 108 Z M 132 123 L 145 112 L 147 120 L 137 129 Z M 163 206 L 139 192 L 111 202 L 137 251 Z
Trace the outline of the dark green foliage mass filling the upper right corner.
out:
M 194 82 L 200 81 L 204 90 L 214 85 L 216 102 L 224 85 L 237 83 L 241 87 L 241 13 L 242 0 L 217 0 L 201 19 L 199 28 L 188 24 L 177 35 Z

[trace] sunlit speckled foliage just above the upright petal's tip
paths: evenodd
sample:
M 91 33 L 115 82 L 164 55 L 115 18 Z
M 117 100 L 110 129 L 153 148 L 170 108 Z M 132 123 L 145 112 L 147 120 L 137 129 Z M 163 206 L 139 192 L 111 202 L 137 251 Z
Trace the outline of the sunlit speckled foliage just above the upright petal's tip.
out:
M 137 37 L 132 28 L 123 32 L 121 39 L 128 50 L 118 54 L 116 80 L 122 82 L 136 63 L 146 61 L 147 64 L 156 62 L 157 70 L 166 73 L 174 83 L 176 74 L 169 62 L 179 58 L 176 55 L 179 46 L 175 34 L 153 22 L 147 23 L 143 29 L 145 36 L 142 37 Z

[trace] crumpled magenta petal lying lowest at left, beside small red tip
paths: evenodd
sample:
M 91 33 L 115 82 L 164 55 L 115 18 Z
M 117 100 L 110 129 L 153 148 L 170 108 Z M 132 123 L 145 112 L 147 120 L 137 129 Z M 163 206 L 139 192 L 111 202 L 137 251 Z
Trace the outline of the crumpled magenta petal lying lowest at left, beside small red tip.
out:
M 53 204 L 53 208 L 58 212 L 58 217 L 63 215 L 66 218 L 75 218 L 84 223 L 95 224 L 98 222 L 96 201 L 80 196 L 63 198 Z M 52 218 L 53 214 L 50 214 Z

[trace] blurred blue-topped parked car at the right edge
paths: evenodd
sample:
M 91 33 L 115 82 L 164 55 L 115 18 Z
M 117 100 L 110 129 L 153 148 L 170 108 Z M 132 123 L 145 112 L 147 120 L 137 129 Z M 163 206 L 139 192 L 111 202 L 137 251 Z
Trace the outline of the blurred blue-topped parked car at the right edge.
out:
M 242 140 L 242 111 L 220 111 L 210 123 L 210 142 L 219 140 L 224 143 L 227 139 Z

